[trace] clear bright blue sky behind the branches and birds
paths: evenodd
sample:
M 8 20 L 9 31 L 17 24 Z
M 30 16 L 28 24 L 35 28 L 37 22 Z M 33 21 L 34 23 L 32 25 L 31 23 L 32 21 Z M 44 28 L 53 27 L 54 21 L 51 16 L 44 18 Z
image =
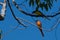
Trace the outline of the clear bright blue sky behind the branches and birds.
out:
M 2 1 L 2 0 L 0 0 Z M 22 1 L 16 0 L 17 3 L 21 3 Z M 14 10 L 14 13 L 17 17 L 23 18 L 25 20 L 28 20 L 32 23 L 35 23 L 31 17 L 26 16 L 24 14 L 22 14 L 21 12 L 19 12 L 15 6 L 12 4 L 12 1 L 10 1 L 12 8 Z M 33 7 L 29 7 L 28 3 L 24 3 L 28 9 L 27 12 L 32 12 L 34 10 Z M 53 15 L 55 14 L 54 12 L 58 12 L 59 11 L 59 7 L 60 7 L 60 0 L 57 0 L 57 2 L 53 3 L 53 7 L 52 9 L 49 9 L 49 11 L 45 11 L 45 9 L 41 11 L 45 14 L 45 15 Z M 21 8 L 23 10 L 26 11 L 26 8 L 24 6 L 21 6 Z M 1 8 L 0 8 L 1 9 Z M 51 20 L 47 20 L 44 18 L 37 18 L 42 22 L 42 27 L 49 29 L 51 28 L 54 24 L 56 24 L 57 19 L 59 18 L 59 15 L 54 17 L 54 18 L 50 18 Z M 26 25 L 28 23 L 25 23 Z M 6 16 L 5 16 L 5 20 L 4 21 L 0 21 L 0 29 L 2 29 L 3 33 L 6 33 L 9 30 L 12 30 L 14 27 L 16 27 L 18 25 L 17 21 L 14 19 L 14 17 L 11 14 L 11 11 L 7 5 L 7 10 L 6 10 Z M 19 26 L 23 27 L 22 25 Z M 57 28 L 54 29 L 51 32 L 47 32 L 47 31 L 43 31 L 44 32 L 44 37 L 43 40 L 60 40 L 60 24 L 57 25 Z M 10 33 L 8 33 L 6 36 L 4 36 L 3 40 L 42 40 L 42 35 L 40 33 L 40 31 L 38 30 L 38 28 L 36 26 L 33 26 L 31 24 L 28 24 L 28 28 L 25 30 L 19 30 L 16 29 Z

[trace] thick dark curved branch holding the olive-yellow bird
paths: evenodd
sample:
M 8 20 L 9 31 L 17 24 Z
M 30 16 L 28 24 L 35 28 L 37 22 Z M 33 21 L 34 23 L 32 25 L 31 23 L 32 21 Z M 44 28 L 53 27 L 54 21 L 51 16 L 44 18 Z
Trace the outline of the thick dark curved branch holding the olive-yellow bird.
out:
M 12 0 L 12 2 L 20 12 L 22 12 L 23 14 L 25 14 L 27 16 L 32 16 L 32 17 L 55 17 L 55 16 L 60 14 L 60 12 L 59 12 L 59 13 L 56 13 L 54 15 L 46 15 L 46 16 L 35 15 L 35 14 L 31 14 L 31 13 L 27 13 L 27 12 L 23 11 L 14 0 Z

